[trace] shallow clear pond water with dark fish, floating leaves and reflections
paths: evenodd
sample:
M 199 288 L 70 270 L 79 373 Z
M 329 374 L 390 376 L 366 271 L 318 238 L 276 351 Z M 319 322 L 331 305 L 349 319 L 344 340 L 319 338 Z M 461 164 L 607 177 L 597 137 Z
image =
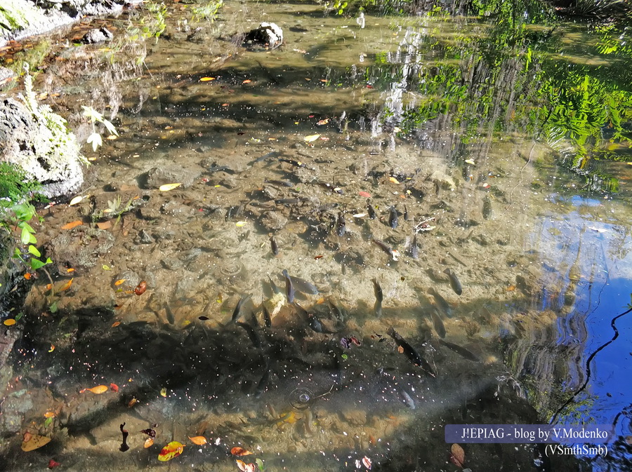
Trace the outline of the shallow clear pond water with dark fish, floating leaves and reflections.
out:
M 41 100 L 119 137 L 39 210 L 52 281 L 4 301 L 0 470 L 627 470 L 627 30 L 200 5 L 46 40 Z M 282 46 L 243 46 L 261 21 Z M 615 435 L 444 436 L 549 422 Z

